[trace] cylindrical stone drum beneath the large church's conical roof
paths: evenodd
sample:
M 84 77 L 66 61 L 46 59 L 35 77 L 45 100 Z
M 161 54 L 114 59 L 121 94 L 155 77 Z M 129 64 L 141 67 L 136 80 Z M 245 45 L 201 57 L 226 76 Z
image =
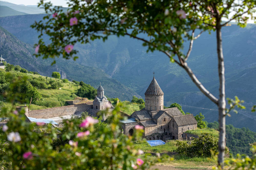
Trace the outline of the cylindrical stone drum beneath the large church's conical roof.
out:
M 162 96 L 145 95 L 145 109 L 146 110 L 164 109 L 164 95 Z

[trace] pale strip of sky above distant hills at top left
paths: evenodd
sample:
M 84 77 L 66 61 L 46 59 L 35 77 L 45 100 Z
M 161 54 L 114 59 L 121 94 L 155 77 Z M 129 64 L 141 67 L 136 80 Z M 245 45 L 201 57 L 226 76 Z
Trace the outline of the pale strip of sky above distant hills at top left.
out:
M 7 1 L 9 3 L 13 3 L 13 4 L 23 4 L 23 5 L 37 5 L 37 3 L 40 0 L 2 0 L 2 1 Z M 49 2 L 51 1 L 51 3 L 53 5 L 58 5 L 58 6 L 63 6 L 63 7 L 68 7 L 66 4 L 66 0 L 46 0 L 45 2 Z

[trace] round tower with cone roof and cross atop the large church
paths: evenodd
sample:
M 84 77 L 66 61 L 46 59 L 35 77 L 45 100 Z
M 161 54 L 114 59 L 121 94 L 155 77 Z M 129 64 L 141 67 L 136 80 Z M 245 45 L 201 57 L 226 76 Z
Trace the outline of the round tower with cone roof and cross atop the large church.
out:
M 155 72 L 154 78 L 145 92 L 145 109 L 148 111 L 164 109 L 164 93 L 155 79 Z

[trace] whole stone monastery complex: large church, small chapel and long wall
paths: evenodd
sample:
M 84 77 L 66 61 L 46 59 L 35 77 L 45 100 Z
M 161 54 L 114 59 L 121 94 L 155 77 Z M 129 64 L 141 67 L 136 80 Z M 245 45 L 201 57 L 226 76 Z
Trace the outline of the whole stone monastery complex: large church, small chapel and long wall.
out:
M 79 103 L 73 100 L 69 104 L 71 105 L 31 111 L 28 111 L 27 106 L 16 107 L 16 109 L 24 108 L 27 117 L 51 119 L 55 122 L 79 116 L 85 111 L 96 117 L 99 111 L 108 108 L 108 113 L 103 115 L 105 121 L 114 109 L 111 102 L 104 96 L 104 89 L 101 85 L 97 89 L 97 96 L 93 102 Z M 193 114 L 183 115 L 176 107 L 164 109 L 164 93 L 156 82 L 155 76 L 145 92 L 145 108 L 133 112 L 128 120 L 120 121 L 120 123 L 126 135 L 133 134 L 135 125 L 144 126 L 144 137 L 147 140 L 182 139 L 185 138 L 183 132 L 197 128 L 197 121 Z

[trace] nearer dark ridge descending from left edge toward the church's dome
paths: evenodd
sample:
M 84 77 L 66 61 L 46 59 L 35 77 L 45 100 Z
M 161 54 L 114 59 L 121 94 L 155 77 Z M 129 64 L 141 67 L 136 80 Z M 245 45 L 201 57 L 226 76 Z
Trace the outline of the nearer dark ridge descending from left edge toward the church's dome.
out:
M 109 78 L 103 70 L 95 67 L 83 66 L 71 60 L 58 58 L 51 66 L 51 59 L 43 60 L 33 56 L 34 48 L 0 27 L 0 54 L 5 54 L 5 60 L 10 64 L 18 64 L 29 71 L 36 71 L 41 75 L 51 76 L 51 72 L 58 71 L 62 78 L 83 81 L 98 88 L 100 82 L 105 87 L 108 97 L 118 97 L 121 100 L 131 99 L 137 93 L 120 82 Z

